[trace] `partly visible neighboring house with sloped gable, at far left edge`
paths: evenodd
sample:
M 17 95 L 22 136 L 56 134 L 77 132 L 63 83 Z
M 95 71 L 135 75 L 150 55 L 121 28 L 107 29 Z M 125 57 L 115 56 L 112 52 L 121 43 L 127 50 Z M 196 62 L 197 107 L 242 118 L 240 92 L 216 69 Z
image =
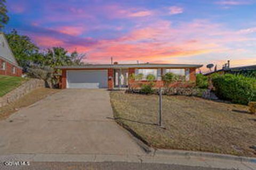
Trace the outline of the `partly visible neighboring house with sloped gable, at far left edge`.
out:
M 20 77 L 21 74 L 22 68 L 19 67 L 4 33 L 0 32 L 0 75 Z

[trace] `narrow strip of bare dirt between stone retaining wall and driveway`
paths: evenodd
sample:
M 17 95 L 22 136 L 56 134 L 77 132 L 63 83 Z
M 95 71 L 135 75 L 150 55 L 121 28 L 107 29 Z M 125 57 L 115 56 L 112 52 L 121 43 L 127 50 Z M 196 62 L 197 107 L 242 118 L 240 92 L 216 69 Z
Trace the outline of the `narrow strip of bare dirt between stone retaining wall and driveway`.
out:
M 42 100 L 43 98 L 58 92 L 58 89 L 40 88 L 31 91 L 29 94 L 21 97 L 19 100 L 12 104 L 0 107 L 0 120 L 4 120 L 9 117 L 12 113 L 17 112 L 20 108 L 29 106 L 36 101 Z

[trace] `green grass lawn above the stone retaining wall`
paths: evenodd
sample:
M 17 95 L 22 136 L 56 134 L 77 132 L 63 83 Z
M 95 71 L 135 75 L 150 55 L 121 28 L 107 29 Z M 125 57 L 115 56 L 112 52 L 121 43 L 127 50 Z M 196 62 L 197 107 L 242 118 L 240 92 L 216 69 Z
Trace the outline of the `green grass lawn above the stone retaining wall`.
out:
M 17 88 L 25 81 L 27 81 L 27 79 L 21 77 L 0 75 L 0 97 Z

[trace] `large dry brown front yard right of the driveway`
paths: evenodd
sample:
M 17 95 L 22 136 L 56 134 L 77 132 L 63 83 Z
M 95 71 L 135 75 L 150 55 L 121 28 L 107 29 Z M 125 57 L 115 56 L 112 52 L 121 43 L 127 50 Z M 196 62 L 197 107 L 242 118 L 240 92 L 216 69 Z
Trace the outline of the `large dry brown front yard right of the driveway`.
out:
M 256 157 L 256 115 L 243 105 L 197 97 L 163 96 L 163 124 L 157 126 L 158 96 L 111 92 L 116 121 L 149 146 Z

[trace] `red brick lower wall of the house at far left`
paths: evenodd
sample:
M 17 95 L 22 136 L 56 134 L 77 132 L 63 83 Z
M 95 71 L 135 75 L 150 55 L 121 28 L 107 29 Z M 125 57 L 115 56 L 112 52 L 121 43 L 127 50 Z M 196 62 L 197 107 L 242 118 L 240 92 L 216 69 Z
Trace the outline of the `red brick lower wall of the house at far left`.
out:
M 2 70 L 0 68 L 0 75 L 10 75 L 10 76 L 17 76 L 21 77 L 22 75 L 22 69 L 20 67 L 14 66 L 11 63 L 4 61 L 0 58 L 0 65 L 2 66 L 2 63 L 5 62 L 5 70 Z M 13 73 L 13 67 L 15 67 L 15 73 Z

